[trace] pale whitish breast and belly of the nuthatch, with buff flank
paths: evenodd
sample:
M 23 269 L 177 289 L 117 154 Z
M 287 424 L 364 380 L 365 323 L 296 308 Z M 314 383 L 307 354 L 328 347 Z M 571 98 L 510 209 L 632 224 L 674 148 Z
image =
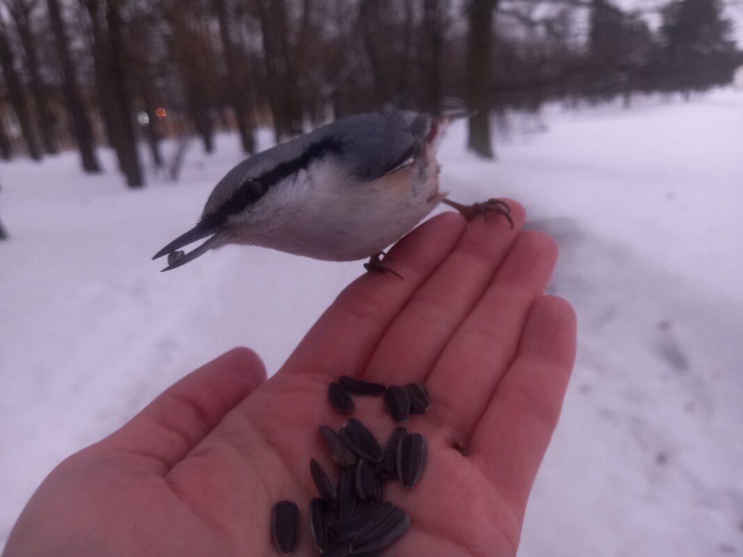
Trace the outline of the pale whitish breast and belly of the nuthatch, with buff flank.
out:
M 427 150 L 426 150 L 427 151 Z M 415 227 L 441 201 L 432 152 L 371 182 L 318 163 L 262 198 L 235 238 L 326 261 L 368 258 Z

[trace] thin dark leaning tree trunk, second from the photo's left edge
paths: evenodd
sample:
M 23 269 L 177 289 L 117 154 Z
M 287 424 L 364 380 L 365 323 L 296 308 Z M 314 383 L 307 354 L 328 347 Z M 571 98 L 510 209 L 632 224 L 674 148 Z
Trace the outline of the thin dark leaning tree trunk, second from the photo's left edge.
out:
M 57 122 L 53 111 L 51 111 L 45 84 L 39 72 L 36 40 L 30 22 L 32 5 L 27 0 L 16 0 L 13 4 L 8 4 L 8 8 L 10 15 L 13 16 L 13 21 L 16 23 L 16 29 L 25 53 L 26 69 L 33 102 L 36 104 L 36 113 L 38 114 L 36 120 L 41 131 L 42 146 L 48 154 L 56 154 L 59 152 L 56 137 Z

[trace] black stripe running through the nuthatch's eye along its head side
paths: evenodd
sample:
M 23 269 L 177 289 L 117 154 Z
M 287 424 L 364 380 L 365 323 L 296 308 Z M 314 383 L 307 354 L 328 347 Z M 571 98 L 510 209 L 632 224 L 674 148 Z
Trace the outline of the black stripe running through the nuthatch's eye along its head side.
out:
M 205 215 L 199 223 L 204 229 L 215 229 L 224 224 L 227 218 L 237 215 L 246 207 L 253 205 L 262 198 L 271 186 L 289 177 L 302 169 L 306 169 L 310 163 L 328 153 L 339 153 L 343 149 L 343 143 L 337 139 L 323 139 L 312 144 L 299 157 L 279 163 L 264 172 L 259 177 L 247 180 L 243 183 L 227 201 L 221 204 L 217 210 L 210 215 Z

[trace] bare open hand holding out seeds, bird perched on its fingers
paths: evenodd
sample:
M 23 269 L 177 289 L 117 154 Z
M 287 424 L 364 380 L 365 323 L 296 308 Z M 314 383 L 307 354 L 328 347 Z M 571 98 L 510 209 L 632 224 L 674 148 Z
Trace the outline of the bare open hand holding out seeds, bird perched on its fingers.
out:
M 429 443 L 421 481 L 385 485 L 409 532 L 393 555 L 516 554 L 531 484 L 557 424 L 575 351 L 567 302 L 545 296 L 557 247 L 490 215 L 455 213 L 403 238 L 385 264 L 405 278 L 354 281 L 265 381 L 236 349 L 160 395 L 126 426 L 62 462 L 11 532 L 4 556 L 273 556 L 274 503 L 317 496 L 317 428 L 345 417 L 327 402 L 341 374 L 424 382 L 432 408 L 405 424 Z M 395 423 L 356 397 L 380 442 Z M 467 446 L 467 456 L 455 449 Z M 317 555 L 306 518 L 297 556 Z

